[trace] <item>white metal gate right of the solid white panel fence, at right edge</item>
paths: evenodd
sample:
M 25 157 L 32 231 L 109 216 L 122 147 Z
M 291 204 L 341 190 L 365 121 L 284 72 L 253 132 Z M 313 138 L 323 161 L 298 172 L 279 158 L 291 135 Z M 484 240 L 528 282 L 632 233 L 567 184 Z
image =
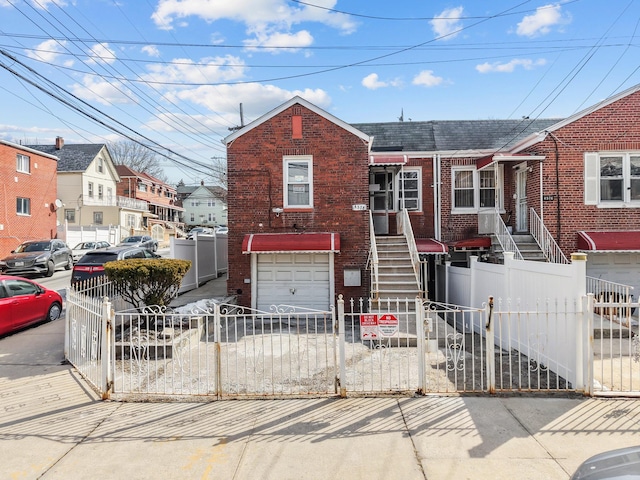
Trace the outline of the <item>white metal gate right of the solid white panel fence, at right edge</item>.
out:
M 590 382 L 598 396 L 640 396 L 640 305 L 631 296 L 589 295 Z

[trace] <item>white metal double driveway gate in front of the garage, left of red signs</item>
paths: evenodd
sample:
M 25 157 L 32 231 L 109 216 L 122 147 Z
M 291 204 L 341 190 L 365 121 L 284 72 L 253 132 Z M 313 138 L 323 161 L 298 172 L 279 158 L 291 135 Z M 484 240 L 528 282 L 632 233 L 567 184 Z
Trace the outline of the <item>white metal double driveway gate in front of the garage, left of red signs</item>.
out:
M 114 316 L 113 393 L 217 398 L 336 394 L 333 311 L 213 304 Z

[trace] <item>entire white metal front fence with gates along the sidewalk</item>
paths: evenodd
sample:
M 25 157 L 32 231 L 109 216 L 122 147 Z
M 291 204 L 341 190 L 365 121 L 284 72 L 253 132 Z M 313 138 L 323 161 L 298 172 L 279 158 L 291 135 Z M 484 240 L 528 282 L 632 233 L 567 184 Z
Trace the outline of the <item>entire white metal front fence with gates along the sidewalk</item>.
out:
M 482 308 L 339 298 L 335 311 L 114 312 L 86 293 L 67 297 L 65 351 L 105 397 L 640 395 L 638 305 L 593 295 L 489 298 Z

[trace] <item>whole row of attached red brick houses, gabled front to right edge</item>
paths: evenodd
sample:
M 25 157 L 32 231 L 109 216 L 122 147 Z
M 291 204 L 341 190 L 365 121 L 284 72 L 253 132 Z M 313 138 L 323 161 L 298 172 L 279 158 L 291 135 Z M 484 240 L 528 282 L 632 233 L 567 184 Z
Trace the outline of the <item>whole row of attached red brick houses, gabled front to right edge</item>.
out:
M 447 253 L 484 251 L 503 222 L 640 291 L 640 86 L 567 119 L 349 125 L 296 97 L 226 144 L 229 289 L 244 305 L 366 296 L 370 239 L 397 234 L 403 210 L 430 294 Z

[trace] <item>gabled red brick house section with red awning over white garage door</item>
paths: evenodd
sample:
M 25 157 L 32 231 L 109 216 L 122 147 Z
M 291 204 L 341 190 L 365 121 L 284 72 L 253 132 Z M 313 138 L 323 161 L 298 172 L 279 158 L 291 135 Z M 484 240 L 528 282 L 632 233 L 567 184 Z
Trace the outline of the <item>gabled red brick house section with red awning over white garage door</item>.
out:
M 229 280 L 240 304 L 368 294 L 369 136 L 295 97 L 229 135 Z

